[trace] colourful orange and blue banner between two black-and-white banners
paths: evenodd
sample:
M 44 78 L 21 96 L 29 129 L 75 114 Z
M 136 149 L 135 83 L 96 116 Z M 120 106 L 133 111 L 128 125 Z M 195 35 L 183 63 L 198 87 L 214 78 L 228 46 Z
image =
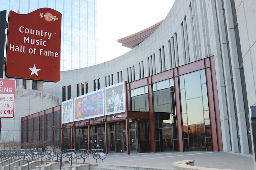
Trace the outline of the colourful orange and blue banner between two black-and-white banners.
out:
M 74 98 L 75 121 L 104 116 L 103 89 Z

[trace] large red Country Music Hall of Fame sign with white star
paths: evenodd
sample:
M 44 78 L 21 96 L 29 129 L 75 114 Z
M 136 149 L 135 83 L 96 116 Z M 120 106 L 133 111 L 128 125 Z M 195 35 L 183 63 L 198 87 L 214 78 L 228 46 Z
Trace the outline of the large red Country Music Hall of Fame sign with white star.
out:
M 5 75 L 11 78 L 60 80 L 61 13 L 40 8 L 9 13 Z

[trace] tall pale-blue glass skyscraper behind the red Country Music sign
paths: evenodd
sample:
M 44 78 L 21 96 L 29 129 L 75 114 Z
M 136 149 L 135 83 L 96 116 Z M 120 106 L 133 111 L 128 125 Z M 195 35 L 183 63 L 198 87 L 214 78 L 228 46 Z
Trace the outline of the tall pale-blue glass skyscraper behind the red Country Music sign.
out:
M 39 8 L 62 14 L 60 70 L 74 70 L 98 63 L 97 0 L 6 0 L 0 11 L 27 14 Z M 5 30 L 7 33 L 7 29 Z

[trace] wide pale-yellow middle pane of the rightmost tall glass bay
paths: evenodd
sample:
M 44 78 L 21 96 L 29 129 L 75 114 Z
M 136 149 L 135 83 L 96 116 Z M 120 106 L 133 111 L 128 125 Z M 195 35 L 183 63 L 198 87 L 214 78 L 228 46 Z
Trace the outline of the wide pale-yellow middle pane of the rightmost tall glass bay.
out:
M 204 123 L 202 98 L 187 100 L 188 125 Z

